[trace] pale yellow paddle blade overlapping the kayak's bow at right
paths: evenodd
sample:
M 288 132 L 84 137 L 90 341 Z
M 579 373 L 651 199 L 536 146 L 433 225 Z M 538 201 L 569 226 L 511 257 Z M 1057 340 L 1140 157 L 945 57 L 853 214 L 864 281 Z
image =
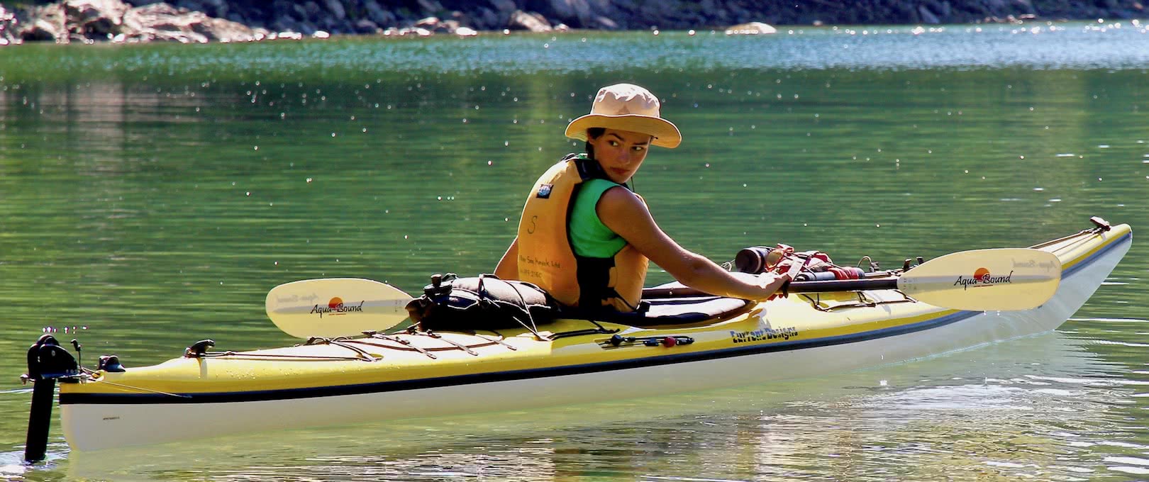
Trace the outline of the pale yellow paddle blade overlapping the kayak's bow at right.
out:
M 897 289 L 955 310 L 1028 310 L 1049 301 L 1062 262 L 1030 248 L 974 249 L 931 259 L 903 273 Z

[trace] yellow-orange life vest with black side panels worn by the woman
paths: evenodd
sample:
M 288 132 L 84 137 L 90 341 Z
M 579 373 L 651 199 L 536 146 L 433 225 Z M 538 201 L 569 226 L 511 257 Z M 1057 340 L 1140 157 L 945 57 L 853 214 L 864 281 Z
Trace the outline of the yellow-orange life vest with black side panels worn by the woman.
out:
M 583 181 L 592 178 L 606 174 L 596 162 L 571 154 L 534 182 L 518 223 L 518 279 L 565 306 L 634 311 L 642 298 L 646 256 L 630 244 L 610 258 L 578 256 L 571 248 L 570 209 Z

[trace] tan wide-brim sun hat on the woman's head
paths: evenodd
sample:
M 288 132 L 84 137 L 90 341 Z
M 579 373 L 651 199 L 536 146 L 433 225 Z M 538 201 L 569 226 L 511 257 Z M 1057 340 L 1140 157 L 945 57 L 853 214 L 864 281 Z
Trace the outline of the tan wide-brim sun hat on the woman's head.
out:
M 591 114 L 566 126 L 566 137 L 586 140 L 589 127 L 606 127 L 638 132 L 654 137 L 650 143 L 674 148 L 683 142 L 683 134 L 670 120 L 658 115 L 658 98 L 634 84 L 615 84 L 599 90 L 591 104 Z

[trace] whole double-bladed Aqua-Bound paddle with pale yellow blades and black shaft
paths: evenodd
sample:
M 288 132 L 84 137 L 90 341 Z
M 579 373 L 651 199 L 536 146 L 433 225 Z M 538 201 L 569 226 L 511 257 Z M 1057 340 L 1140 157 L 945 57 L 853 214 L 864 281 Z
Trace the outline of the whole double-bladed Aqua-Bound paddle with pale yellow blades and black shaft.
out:
M 899 289 L 934 306 L 965 311 L 1028 310 L 1049 301 L 1062 280 L 1062 263 L 1030 248 L 953 252 L 897 277 L 793 281 L 789 293 Z M 647 288 L 643 297 L 708 296 L 693 288 Z M 279 285 L 268 293 L 268 317 L 288 335 L 356 336 L 407 319 L 411 296 L 385 282 L 326 278 Z

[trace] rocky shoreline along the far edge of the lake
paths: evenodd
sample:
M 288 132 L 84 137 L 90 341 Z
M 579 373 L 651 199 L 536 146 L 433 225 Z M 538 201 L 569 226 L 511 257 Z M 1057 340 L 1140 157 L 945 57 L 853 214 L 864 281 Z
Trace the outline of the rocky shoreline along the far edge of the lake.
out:
M 0 45 L 254 41 L 331 34 L 953 24 L 1142 18 L 1139 0 L 61 0 L 0 2 Z

